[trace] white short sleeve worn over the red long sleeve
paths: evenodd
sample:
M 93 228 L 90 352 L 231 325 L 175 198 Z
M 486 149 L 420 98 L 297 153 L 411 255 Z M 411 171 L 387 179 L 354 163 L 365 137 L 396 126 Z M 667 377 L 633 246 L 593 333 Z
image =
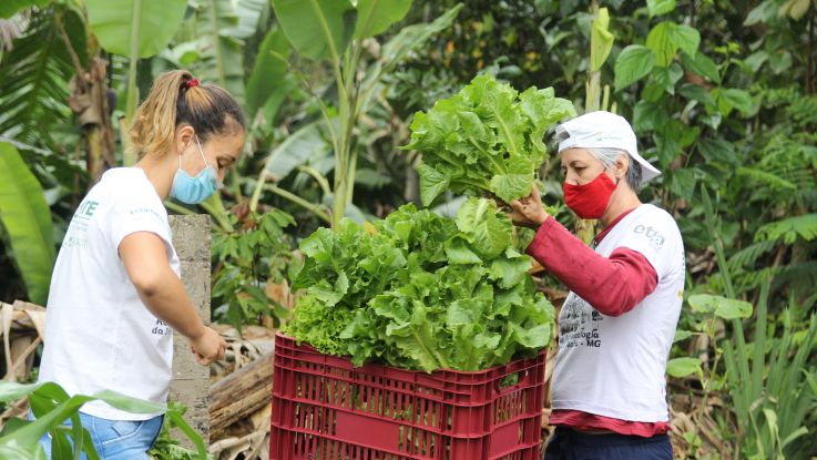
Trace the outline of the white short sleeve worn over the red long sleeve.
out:
M 666 212 L 656 208 L 631 225 L 616 246 L 642 254 L 661 280 L 675 269 L 681 233 L 675 221 Z

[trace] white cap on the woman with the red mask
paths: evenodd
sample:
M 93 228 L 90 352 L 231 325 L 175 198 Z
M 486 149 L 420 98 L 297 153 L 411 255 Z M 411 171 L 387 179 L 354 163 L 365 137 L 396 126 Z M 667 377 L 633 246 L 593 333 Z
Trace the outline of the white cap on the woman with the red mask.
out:
M 590 112 L 569 120 L 559 127 L 569 135 L 559 143 L 559 153 L 572 147 L 619 149 L 641 164 L 642 183 L 661 174 L 661 171 L 639 155 L 635 133 L 623 116 L 603 111 Z

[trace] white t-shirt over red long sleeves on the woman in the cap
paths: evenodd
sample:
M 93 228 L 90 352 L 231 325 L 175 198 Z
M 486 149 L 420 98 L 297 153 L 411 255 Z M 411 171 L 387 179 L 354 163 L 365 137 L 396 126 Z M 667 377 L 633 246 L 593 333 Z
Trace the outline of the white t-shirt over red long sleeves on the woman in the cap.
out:
M 606 316 L 570 293 L 559 314 L 553 409 L 629 421 L 667 421 L 664 372 L 684 293 L 684 244 L 665 211 L 644 204 L 602 239 L 598 254 L 619 247 L 641 253 L 658 284 L 632 310 Z

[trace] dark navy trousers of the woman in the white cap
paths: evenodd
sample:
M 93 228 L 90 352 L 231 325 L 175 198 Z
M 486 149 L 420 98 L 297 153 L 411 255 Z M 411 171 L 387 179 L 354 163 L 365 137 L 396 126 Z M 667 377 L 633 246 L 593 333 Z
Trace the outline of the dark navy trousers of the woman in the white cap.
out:
M 667 435 L 652 438 L 627 435 L 588 435 L 556 427 L 544 460 L 672 460 Z

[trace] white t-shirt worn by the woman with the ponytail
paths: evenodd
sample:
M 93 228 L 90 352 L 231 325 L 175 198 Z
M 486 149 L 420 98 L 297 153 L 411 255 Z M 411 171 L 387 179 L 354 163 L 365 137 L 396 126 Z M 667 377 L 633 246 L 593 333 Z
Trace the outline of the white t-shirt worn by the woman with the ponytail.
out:
M 180 275 L 167 212 L 144 171 L 105 172 L 73 215 L 51 278 L 40 381 L 69 395 L 115 390 L 165 405 L 173 359 L 172 329 L 142 304 L 119 256 L 135 232 L 162 238 Z M 146 420 L 102 401 L 82 411 L 113 420 Z

